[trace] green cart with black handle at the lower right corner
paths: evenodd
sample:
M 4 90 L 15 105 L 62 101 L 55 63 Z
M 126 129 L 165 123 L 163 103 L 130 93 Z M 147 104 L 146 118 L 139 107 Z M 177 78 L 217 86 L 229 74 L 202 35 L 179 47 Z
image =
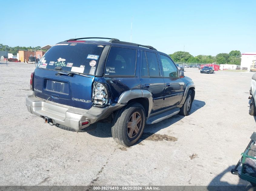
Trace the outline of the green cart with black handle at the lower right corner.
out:
M 251 141 L 241 154 L 240 160 L 235 168 L 231 170 L 231 173 L 250 182 L 252 186 L 256 186 L 256 133 L 253 132 L 250 138 Z

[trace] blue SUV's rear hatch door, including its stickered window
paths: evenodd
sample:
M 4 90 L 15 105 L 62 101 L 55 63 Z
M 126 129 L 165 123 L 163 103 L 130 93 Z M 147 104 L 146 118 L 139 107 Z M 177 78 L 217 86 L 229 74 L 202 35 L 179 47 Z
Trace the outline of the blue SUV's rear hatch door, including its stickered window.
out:
M 35 96 L 90 109 L 94 75 L 103 48 L 95 43 L 59 43 L 50 48 L 35 69 Z

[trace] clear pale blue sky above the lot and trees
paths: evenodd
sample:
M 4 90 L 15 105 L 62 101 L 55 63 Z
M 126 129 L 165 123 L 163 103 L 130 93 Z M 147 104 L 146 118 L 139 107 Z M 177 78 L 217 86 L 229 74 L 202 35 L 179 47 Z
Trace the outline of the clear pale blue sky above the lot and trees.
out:
M 171 54 L 256 52 L 256 1 L 17 1 L 1 14 L 0 43 L 44 46 L 111 37 Z

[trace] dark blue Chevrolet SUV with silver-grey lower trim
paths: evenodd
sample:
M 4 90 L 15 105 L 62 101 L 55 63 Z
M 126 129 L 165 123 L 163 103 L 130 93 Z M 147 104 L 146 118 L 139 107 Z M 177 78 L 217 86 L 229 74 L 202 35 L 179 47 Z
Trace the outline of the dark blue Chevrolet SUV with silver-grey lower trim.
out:
M 55 44 L 31 74 L 30 113 L 59 128 L 83 132 L 112 123 L 112 136 L 134 145 L 145 124 L 177 113 L 189 115 L 195 96 L 191 78 L 152 46 L 70 39 Z

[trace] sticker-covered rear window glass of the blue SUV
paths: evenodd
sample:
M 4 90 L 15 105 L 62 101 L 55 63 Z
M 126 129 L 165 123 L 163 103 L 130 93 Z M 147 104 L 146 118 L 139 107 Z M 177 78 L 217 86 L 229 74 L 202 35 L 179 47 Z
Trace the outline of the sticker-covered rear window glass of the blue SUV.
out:
M 104 46 L 85 43 L 56 44 L 38 62 L 37 68 L 95 75 Z

